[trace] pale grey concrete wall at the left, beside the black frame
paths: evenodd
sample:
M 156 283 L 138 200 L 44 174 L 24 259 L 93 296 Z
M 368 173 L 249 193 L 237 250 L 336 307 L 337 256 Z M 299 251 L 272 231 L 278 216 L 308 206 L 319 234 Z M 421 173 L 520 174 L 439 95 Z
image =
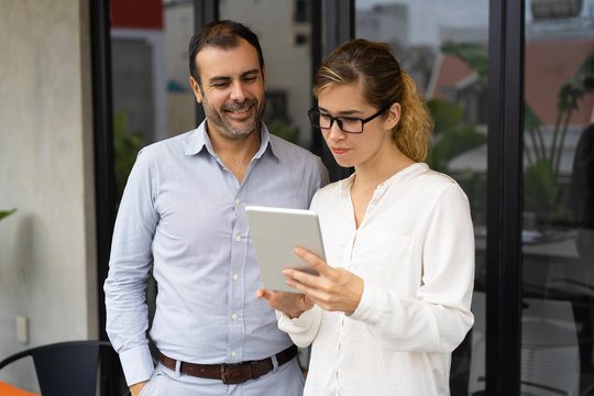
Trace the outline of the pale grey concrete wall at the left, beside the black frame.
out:
M 0 360 L 98 337 L 90 77 L 88 0 L 0 1 Z

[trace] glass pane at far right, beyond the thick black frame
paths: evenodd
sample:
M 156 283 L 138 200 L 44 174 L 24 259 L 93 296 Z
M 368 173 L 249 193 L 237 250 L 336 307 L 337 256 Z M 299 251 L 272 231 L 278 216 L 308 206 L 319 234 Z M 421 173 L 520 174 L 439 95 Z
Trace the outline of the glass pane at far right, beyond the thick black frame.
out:
M 526 1 L 521 391 L 594 394 L 594 1 Z

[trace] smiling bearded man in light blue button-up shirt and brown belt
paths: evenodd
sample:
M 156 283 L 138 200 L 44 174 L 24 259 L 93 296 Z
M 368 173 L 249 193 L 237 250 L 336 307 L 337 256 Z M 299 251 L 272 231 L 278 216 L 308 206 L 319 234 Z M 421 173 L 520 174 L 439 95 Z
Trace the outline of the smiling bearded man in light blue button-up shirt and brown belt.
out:
M 266 70 L 253 32 L 213 22 L 189 54 L 206 121 L 139 154 L 113 233 L 107 331 L 133 396 L 301 395 L 295 346 L 255 298 L 262 282 L 244 208 L 308 208 L 328 173 L 261 122 Z M 145 334 L 151 270 L 156 369 Z

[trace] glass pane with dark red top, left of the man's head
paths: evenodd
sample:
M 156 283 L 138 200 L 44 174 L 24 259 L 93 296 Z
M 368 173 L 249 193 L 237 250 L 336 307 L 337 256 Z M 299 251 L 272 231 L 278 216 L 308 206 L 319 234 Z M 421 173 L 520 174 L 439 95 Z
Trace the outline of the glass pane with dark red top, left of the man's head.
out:
M 188 43 L 194 0 L 111 0 L 117 199 L 136 152 L 196 127 Z

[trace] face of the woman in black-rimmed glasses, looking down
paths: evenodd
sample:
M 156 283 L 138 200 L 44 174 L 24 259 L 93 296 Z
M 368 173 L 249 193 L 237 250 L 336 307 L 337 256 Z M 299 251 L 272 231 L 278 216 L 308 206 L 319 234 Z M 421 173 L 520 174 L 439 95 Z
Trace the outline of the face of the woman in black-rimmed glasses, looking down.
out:
M 362 94 L 359 82 L 331 86 L 318 96 L 318 108 L 321 114 L 366 119 L 380 109 L 370 105 Z M 399 108 L 398 108 L 399 109 Z M 322 129 L 326 144 L 334 160 L 343 167 L 373 166 L 378 163 L 395 145 L 392 140 L 394 110 L 388 109 L 380 117 L 363 125 L 363 133 L 346 133 L 340 130 L 334 121 L 330 129 Z M 387 116 L 389 113 L 389 116 Z M 397 114 L 399 117 L 399 112 Z

